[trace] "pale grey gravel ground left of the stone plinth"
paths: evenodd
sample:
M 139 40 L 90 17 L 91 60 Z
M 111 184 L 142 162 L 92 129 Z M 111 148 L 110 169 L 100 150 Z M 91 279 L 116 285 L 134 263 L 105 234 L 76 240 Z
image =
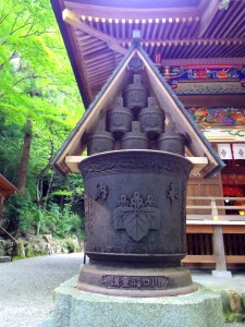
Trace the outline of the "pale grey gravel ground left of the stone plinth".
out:
M 52 310 L 53 289 L 77 275 L 82 263 L 75 253 L 0 264 L 0 326 L 38 326 Z

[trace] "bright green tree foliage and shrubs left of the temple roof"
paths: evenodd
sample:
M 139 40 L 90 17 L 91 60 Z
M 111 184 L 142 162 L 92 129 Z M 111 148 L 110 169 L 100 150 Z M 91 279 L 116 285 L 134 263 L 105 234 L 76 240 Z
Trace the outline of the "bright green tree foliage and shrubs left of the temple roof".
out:
M 81 228 L 74 211 L 81 178 L 71 177 L 75 191 L 64 194 L 68 182 L 49 161 L 83 110 L 49 0 L 0 0 L 0 172 L 14 184 L 27 120 L 33 128 L 25 193 L 5 206 L 9 230 Z

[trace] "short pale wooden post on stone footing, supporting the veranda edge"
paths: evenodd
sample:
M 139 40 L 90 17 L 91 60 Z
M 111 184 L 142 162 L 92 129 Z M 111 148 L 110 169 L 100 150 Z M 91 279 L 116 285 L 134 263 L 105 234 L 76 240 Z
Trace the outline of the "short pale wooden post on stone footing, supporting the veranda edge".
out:
M 216 270 L 212 270 L 215 277 L 232 277 L 231 271 L 226 270 L 225 252 L 223 244 L 223 232 L 220 225 L 216 225 L 213 228 L 213 252 L 216 255 Z

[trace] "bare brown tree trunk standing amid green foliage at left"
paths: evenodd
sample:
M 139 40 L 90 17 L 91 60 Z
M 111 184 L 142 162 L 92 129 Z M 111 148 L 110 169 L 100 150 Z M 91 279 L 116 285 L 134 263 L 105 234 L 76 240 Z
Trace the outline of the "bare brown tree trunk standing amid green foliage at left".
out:
M 25 135 L 24 135 L 21 166 L 20 166 L 20 172 L 17 179 L 17 189 L 20 190 L 21 194 L 25 192 L 26 177 L 28 172 L 29 152 L 30 152 L 30 144 L 33 138 L 30 120 L 28 119 L 26 120 L 26 124 L 24 129 L 25 129 L 24 130 Z

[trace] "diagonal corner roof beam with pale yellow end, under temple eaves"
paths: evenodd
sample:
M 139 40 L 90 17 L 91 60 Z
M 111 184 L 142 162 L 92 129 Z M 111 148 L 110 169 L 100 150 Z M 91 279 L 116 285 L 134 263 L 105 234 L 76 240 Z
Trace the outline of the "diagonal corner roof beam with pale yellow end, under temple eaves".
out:
M 108 44 L 108 47 L 117 52 L 120 52 L 122 55 L 124 55 L 126 52 L 126 50 L 121 47 L 118 43 L 118 40 L 111 36 L 108 36 L 107 34 L 83 23 L 76 15 L 74 12 L 72 12 L 71 10 L 65 9 L 62 13 L 63 15 L 63 20 L 64 22 L 71 24 L 73 27 L 79 28 L 83 32 L 98 38 L 101 39 L 103 41 L 106 41 Z

